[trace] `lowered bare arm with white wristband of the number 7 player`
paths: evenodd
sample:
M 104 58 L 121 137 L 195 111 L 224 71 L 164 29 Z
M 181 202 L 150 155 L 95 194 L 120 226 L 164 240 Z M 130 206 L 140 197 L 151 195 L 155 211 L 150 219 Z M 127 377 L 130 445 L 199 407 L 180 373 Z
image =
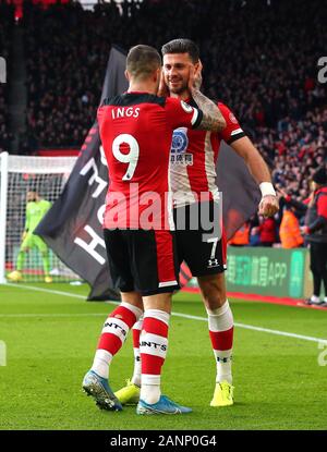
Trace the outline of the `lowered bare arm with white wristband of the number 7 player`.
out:
M 249 171 L 261 187 L 263 198 L 259 213 L 264 217 L 274 217 L 279 210 L 279 201 L 265 160 L 247 136 L 237 139 L 230 146 L 245 160 Z

